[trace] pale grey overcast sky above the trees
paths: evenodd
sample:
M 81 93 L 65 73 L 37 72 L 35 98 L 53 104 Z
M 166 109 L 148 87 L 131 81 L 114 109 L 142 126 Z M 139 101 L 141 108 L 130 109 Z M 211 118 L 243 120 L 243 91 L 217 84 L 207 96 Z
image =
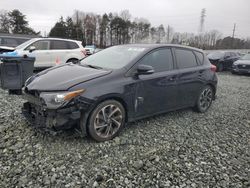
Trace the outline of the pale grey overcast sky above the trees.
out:
M 169 24 L 176 32 L 197 33 L 202 8 L 206 8 L 205 31 L 217 29 L 231 36 L 236 23 L 236 37 L 250 36 L 250 0 L 0 0 L 0 9 L 19 9 L 42 34 L 76 9 L 97 14 L 127 9 L 153 26 Z

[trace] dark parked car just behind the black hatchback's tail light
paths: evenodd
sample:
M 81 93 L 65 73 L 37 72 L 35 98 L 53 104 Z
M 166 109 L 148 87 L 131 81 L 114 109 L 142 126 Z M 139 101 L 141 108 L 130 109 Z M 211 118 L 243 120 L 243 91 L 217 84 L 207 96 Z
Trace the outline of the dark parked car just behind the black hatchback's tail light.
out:
M 235 52 L 215 51 L 207 55 L 209 61 L 217 67 L 217 71 L 231 70 L 233 62 L 240 56 Z

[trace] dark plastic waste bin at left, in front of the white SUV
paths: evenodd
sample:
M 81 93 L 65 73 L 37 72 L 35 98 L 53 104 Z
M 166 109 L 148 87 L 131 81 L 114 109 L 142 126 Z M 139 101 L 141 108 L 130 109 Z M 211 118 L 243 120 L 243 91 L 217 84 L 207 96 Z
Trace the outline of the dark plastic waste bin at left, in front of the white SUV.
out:
M 34 57 L 0 56 L 0 86 L 10 94 L 21 94 L 25 81 L 32 76 Z

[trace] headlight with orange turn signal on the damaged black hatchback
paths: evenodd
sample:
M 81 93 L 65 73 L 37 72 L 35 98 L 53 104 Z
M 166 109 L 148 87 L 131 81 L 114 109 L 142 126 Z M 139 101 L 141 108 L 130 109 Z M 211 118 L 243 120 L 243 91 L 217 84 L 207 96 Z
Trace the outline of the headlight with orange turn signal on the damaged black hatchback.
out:
M 48 109 L 57 109 L 68 104 L 72 99 L 81 95 L 85 90 L 80 89 L 76 91 L 68 91 L 68 92 L 42 92 L 40 94 L 40 98 L 46 104 Z

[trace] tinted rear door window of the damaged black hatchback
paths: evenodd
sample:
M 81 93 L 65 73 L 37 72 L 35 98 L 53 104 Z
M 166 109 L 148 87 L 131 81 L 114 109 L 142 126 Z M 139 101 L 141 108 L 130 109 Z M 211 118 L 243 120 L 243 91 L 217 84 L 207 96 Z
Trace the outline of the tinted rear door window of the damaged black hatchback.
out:
M 176 49 L 175 53 L 179 68 L 189 68 L 197 66 L 196 59 L 192 51 Z

